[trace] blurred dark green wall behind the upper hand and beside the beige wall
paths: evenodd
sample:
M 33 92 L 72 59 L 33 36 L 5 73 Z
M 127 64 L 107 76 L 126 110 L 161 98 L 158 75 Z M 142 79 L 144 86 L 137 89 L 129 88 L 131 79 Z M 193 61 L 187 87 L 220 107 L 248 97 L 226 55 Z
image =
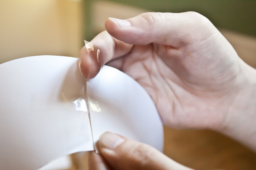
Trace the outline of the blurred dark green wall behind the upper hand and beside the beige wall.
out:
M 86 27 L 90 27 L 90 3 L 84 0 L 87 11 Z M 206 16 L 216 27 L 256 37 L 256 0 L 108 0 L 156 12 L 196 11 Z M 87 29 L 87 35 L 92 30 Z M 90 34 L 91 35 L 91 34 Z M 87 36 L 87 40 L 92 37 Z

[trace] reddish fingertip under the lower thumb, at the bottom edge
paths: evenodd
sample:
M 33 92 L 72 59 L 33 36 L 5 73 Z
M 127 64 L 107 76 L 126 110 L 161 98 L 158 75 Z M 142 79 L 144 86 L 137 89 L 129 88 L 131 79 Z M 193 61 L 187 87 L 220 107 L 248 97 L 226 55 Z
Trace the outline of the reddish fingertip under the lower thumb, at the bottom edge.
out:
M 88 167 L 90 170 L 111 170 L 104 158 L 95 151 L 89 152 Z

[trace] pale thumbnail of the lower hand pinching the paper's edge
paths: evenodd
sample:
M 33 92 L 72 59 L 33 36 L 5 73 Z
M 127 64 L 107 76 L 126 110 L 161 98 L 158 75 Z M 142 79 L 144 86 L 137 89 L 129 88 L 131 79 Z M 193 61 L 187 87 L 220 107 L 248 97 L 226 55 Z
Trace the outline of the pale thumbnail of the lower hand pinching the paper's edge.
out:
M 115 133 L 105 132 L 99 137 L 98 145 L 106 149 L 115 149 L 118 145 L 124 142 L 124 139 Z

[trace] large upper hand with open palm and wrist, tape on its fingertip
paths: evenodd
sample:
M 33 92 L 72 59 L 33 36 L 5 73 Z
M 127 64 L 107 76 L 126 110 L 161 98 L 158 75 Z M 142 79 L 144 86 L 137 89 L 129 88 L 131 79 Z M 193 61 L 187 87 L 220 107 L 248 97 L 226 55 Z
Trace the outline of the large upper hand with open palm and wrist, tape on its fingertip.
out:
M 256 141 L 255 70 L 207 18 L 196 12 L 143 13 L 109 18 L 105 27 L 80 51 L 85 77 L 107 63 L 144 87 L 165 125 L 215 129 L 250 146 Z

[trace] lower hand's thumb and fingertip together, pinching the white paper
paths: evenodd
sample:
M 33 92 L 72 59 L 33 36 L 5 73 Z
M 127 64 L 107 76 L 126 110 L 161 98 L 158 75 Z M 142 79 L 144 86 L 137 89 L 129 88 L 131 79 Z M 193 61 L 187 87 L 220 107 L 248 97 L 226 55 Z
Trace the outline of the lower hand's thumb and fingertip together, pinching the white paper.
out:
M 95 151 L 89 153 L 90 170 L 192 170 L 185 167 L 155 148 L 117 135 L 123 142 L 111 149 L 106 146 L 106 136 L 115 138 L 111 132 L 105 132 L 100 136 L 98 148 L 100 154 Z M 104 143 L 105 141 L 105 143 Z

